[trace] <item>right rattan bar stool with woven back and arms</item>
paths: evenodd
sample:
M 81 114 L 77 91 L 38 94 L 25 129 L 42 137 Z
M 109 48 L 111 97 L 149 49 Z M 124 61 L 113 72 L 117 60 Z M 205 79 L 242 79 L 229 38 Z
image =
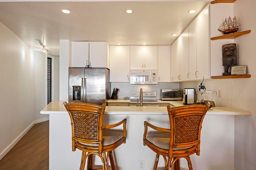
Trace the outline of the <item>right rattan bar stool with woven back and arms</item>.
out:
M 156 152 L 154 170 L 158 164 L 159 155 L 162 155 L 166 170 L 179 170 L 180 158 L 186 158 L 189 170 L 193 170 L 190 155 L 200 155 L 200 133 L 202 122 L 208 105 L 186 105 L 178 107 L 167 106 L 170 119 L 170 129 L 156 127 L 144 121 L 143 145 Z M 147 135 L 148 127 L 154 129 Z M 166 159 L 166 156 L 168 159 Z

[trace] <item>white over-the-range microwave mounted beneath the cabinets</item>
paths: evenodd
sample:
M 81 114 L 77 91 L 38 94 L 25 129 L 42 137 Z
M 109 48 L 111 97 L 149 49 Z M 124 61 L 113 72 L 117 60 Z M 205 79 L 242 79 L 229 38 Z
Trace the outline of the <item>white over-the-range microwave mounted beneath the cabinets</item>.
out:
M 130 84 L 158 84 L 157 69 L 130 69 Z

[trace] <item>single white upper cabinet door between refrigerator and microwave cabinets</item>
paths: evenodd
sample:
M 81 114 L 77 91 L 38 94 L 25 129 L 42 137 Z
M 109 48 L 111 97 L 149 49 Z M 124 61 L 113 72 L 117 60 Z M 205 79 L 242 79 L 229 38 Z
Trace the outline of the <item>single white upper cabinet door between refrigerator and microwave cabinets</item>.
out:
M 110 82 L 129 82 L 130 46 L 110 46 Z

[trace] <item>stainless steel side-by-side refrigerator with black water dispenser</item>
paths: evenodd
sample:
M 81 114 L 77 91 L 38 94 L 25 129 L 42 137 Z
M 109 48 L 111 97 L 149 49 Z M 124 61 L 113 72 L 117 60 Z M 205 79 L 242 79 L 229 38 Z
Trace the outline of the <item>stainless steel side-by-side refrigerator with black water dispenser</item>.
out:
M 108 68 L 68 68 L 68 102 L 102 105 L 110 99 Z

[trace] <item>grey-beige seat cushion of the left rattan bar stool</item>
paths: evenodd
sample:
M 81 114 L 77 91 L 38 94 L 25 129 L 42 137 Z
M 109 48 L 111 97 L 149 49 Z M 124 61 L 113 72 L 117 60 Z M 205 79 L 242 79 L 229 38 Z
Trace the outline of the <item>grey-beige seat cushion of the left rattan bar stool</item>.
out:
M 111 129 L 103 129 L 102 130 L 102 140 L 103 140 L 103 146 L 112 145 L 113 143 L 116 143 L 118 140 L 122 139 L 124 137 L 122 132 L 119 132 L 117 130 L 111 130 Z M 98 146 L 98 144 L 90 144 L 90 143 L 82 143 L 83 145 L 87 146 Z

